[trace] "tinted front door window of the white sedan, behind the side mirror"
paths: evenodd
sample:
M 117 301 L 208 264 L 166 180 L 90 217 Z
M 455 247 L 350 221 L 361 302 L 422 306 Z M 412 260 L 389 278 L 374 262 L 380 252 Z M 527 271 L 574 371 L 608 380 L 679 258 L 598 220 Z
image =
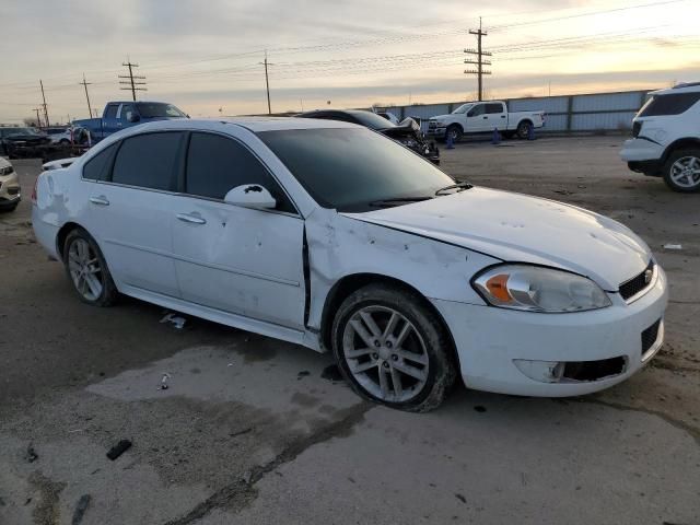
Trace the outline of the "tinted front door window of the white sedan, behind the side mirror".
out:
M 185 191 L 221 199 L 244 184 L 259 184 L 275 197 L 280 211 L 295 212 L 287 195 L 260 161 L 235 140 L 211 133 L 192 133 L 187 153 Z

